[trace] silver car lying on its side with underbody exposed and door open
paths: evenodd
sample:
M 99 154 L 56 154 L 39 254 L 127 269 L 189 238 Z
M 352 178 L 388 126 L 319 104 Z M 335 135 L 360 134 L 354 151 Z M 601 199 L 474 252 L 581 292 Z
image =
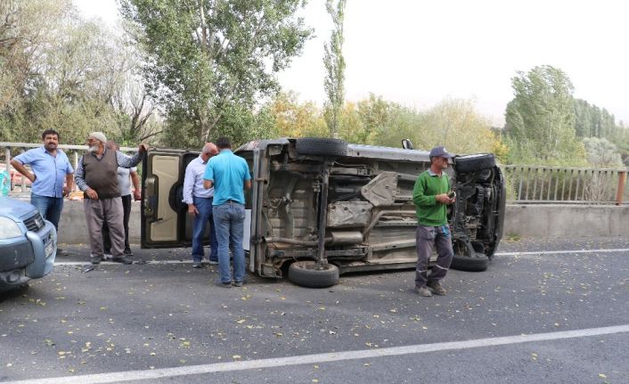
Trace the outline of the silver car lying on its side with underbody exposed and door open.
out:
M 249 272 L 288 274 L 306 287 L 329 287 L 339 274 L 413 268 L 413 185 L 429 152 L 324 138 L 259 140 L 236 154 L 249 163 L 243 247 Z M 143 167 L 143 248 L 192 243 L 181 202 L 186 165 L 199 152 L 151 150 Z M 453 267 L 483 271 L 502 237 L 504 178 L 494 155 L 457 156 L 449 210 Z

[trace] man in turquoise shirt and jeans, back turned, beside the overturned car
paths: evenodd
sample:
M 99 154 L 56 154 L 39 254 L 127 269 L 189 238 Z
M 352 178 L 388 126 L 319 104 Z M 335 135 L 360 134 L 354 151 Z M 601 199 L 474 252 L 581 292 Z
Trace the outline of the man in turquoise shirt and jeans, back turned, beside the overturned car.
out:
M 245 253 L 242 249 L 242 233 L 245 220 L 245 194 L 251 188 L 251 176 L 247 161 L 233 154 L 232 143 L 227 137 L 216 140 L 218 155 L 208 162 L 203 175 L 203 187 L 214 187 L 214 225 L 218 240 L 218 270 L 220 281 L 216 285 L 230 288 L 229 246 L 233 251 L 233 285 L 241 287 L 245 278 Z

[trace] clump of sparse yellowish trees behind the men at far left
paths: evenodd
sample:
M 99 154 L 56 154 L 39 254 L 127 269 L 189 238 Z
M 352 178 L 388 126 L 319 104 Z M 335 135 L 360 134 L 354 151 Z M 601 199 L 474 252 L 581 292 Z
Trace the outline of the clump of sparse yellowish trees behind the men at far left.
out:
M 127 37 L 82 20 L 69 0 L 4 2 L 0 20 L 0 139 L 38 142 L 53 128 L 83 143 L 101 130 L 135 146 L 157 131 Z

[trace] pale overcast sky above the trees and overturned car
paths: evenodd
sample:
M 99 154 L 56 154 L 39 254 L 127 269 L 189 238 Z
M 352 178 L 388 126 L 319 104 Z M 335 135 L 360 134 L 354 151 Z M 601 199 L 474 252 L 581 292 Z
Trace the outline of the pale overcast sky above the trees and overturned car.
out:
M 74 0 L 88 18 L 114 26 L 115 0 Z M 301 57 L 280 74 L 302 101 L 320 104 L 325 0 L 302 12 L 314 28 Z M 346 98 L 371 92 L 419 109 L 447 98 L 476 101 L 502 126 L 511 78 L 537 65 L 562 69 L 575 96 L 629 123 L 629 3 L 613 0 L 347 0 Z

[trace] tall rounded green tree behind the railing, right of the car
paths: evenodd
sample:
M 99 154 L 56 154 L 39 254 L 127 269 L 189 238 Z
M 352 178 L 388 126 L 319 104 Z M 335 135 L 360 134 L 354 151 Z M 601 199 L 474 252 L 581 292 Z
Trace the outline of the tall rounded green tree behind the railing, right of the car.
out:
M 560 69 L 540 66 L 511 79 L 515 97 L 507 105 L 505 132 L 513 154 L 544 163 L 583 159 L 576 140 L 570 79 Z M 513 159 L 513 158 L 511 158 Z

